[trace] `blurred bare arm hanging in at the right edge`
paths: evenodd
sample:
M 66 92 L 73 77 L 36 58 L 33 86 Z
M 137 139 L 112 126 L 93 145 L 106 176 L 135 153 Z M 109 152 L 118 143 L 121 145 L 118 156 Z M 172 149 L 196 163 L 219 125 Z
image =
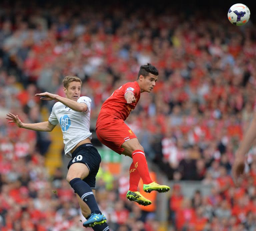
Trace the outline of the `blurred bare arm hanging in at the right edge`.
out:
M 232 165 L 232 175 L 234 183 L 238 183 L 239 177 L 244 175 L 246 154 L 250 150 L 253 141 L 256 138 L 256 113 L 253 116 L 249 129 L 246 131 L 243 140 L 235 155 L 235 161 Z

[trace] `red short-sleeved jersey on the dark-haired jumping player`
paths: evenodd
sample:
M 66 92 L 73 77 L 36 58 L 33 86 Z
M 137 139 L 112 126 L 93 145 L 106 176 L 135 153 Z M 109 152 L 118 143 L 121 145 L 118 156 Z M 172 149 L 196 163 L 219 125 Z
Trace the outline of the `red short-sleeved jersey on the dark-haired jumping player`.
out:
M 124 98 L 127 92 L 131 92 L 136 98 L 136 102 L 128 104 Z M 113 92 L 113 94 L 106 99 L 102 104 L 96 128 L 102 124 L 107 124 L 112 121 L 112 119 L 122 119 L 126 120 L 130 112 L 135 108 L 140 99 L 140 87 L 137 81 L 128 82 L 119 87 Z

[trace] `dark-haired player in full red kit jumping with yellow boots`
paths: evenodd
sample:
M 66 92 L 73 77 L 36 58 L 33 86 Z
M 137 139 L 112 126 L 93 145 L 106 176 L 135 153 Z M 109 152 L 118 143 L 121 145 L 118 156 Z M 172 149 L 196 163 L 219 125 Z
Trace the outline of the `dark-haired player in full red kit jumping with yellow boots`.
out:
M 150 178 L 143 147 L 134 132 L 124 123 L 130 112 L 135 108 L 140 93 L 151 92 L 158 78 L 156 67 L 148 63 L 142 65 L 135 82 L 128 82 L 115 90 L 102 104 L 97 123 L 96 134 L 101 143 L 118 154 L 132 158 L 130 167 L 130 188 L 126 197 L 141 205 L 150 205 L 151 201 L 138 192 L 140 178 L 143 190 L 151 192 L 167 192 L 170 187 L 159 185 Z

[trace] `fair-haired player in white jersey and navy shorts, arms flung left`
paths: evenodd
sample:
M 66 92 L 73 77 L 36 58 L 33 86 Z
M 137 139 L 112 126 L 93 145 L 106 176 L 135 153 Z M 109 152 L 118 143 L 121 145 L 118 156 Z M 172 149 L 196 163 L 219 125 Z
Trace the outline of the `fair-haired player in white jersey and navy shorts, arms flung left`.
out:
M 59 123 L 63 133 L 65 155 L 72 158 L 68 164 L 67 181 L 74 189 L 83 216 L 87 219 L 84 227 L 95 231 L 107 231 L 106 217 L 101 213 L 95 200 L 95 181 L 101 162 L 100 154 L 91 144 L 90 105 L 91 99 L 80 97 L 82 81 L 76 76 L 66 76 L 63 90 L 66 98 L 44 92 L 36 94 L 41 100 L 56 100 L 49 120 L 41 123 L 22 123 L 18 115 L 8 113 L 8 123 L 20 128 L 36 131 L 52 131 Z

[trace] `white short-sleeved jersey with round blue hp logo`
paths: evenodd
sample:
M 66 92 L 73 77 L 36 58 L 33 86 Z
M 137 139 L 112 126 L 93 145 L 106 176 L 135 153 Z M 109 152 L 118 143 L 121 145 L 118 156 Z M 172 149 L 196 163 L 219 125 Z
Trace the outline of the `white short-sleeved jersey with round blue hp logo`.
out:
M 52 113 L 48 120 L 53 125 L 60 123 L 65 144 L 65 155 L 69 158 L 72 158 L 70 150 L 81 140 L 92 138 L 92 133 L 90 132 L 91 99 L 82 96 L 77 102 L 85 103 L 87 111 L 74 111 L 63 103 L 57 102 L 53 105 Z

